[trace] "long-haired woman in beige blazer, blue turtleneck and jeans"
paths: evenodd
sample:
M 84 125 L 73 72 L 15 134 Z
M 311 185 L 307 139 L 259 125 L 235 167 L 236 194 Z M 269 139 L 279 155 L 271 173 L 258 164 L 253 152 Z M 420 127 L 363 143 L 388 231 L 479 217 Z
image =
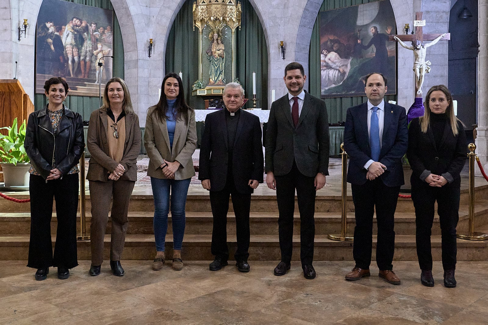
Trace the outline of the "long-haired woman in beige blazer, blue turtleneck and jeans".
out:
M 185 204 L 190 180 L 195 175 L 192 154 L 197 147 L 195 111 L 186 105 L 182 79 L 167 74 L 158 104 L 147 110 L 144 146 L 149 156 L 147 175 L 154 196 L 154 238 L 156 257 L 152 268 L 163 268 L 168 229 L 169 193 L 173 225 L 173 269 L 181 270 L 181 249 L 185 228 Z

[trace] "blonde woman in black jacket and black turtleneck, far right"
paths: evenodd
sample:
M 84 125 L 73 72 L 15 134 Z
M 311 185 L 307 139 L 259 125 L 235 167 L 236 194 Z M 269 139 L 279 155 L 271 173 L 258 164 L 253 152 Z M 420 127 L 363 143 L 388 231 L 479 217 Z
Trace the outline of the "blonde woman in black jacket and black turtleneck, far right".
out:
M 417 256 L 421 282 L 433 287 L 430 234 L 434 203 L 442 234 L 444 285 L 456 287 L 456 226 L 459 220 L 460 172 L 467 157 L 466 134 L 454 115 L 452 97 L 444 85 L 429 89 L 424 116 L 410 122 L 407 158 L 415 207 Z

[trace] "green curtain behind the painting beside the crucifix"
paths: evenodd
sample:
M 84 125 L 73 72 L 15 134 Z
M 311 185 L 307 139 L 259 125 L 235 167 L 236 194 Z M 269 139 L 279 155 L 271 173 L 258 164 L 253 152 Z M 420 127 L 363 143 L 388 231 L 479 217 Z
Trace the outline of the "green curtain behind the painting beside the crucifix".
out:
M 312 30 L 312 38 L 310 39 L 310 54 L 308 56 L 308 90 L 313 96 L 320 98 L 320 12 L 330 9 L 344 8 L 374 2 L 379 0 L 324 0 L 320 7 L 317 19 Z M 394 80 L 396 82 L 396 80 Z M 385 96 L 385 101 L 397 101 L 397 95 Z M 327 106 L 327 113 L 329 115 L 329 123 L 336 123 L 338 121 L 346 120 L 347 108 L 364 103 L 367 101 L 366 96 L 356 97 L 336 97 L 324 98 Z

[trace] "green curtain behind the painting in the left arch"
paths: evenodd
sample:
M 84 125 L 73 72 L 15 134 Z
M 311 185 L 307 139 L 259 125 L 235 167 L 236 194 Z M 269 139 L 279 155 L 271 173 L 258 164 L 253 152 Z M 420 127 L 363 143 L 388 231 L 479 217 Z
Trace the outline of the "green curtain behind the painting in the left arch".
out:
M 112 3 L 110 0 L 64 0 L 69 2 L 74 2 L 78 4 L 84 4 L 92 7 L 113 10 Z M 119 26 L 119 20 L 114 11 L 114 46 L 113 46 L 113 75 L 124 77 L 124 53 L 123 53 L 123 42 L 122 33 Z M 34 107 L 37 110 L 43 108 L 47 103 L 46 96 L 43 94 L 34 95 Z M 88 120 L 90 118 L 91 112 L 98 109 L 99 97 L 93 96 L 70 96 L 66 97 L 65 105 L 69 107 L 70 110 L 80 113 L 83 120 Z

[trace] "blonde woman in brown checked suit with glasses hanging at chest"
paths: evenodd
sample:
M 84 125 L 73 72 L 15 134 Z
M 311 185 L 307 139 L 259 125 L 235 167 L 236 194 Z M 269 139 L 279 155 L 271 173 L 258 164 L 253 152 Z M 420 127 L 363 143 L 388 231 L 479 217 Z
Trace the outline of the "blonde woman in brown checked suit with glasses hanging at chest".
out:
M 139 117 L 132 109 L 129 90 L 119 77 L 108 80 L 103 106 L 90 116 L 87 146 L 91 153 L 86 179 L 90 181 L 90 275 L 99 275 L 103 262 L 103 237 L 112 204 L 110 268 L 122 276 L 120 259 L 125 242 L 129 199 L 137 179 L 136 159 L 141 150 Z

